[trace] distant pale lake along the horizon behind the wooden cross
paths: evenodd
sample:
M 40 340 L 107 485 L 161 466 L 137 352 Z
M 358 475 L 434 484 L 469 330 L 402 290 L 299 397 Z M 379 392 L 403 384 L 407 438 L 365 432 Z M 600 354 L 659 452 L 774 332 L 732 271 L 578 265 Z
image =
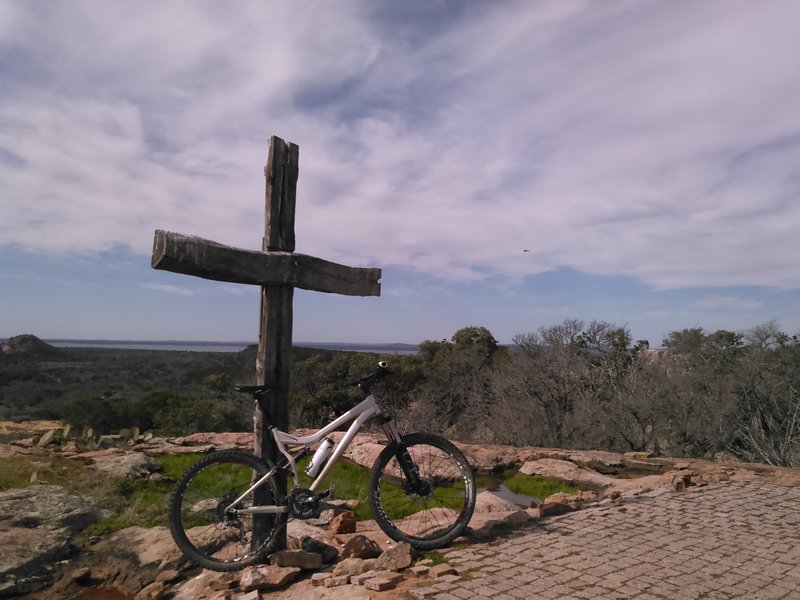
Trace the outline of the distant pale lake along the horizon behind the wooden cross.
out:
M 180 352 L 241 352 L 256 342 L 186 342 L 137 340 L 43 340 L 56 348 L 117 348 L 119 350 L 174 350 Z M 344 344 L 328 342 L 297 342 L 301 348 L 319 348 L 344 352 L 374 352 L 378 354 L 416 354 L 414 344 Z

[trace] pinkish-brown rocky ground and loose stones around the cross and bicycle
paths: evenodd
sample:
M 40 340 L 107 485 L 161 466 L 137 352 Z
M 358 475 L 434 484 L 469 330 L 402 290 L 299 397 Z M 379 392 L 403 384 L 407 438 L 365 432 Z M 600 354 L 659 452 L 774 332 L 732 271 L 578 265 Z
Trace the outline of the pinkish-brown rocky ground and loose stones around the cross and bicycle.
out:
M 195 434 L 153 438 L 130 432 L 126 438 L 86 444 L 64 432 L 37 432 L 0 444 L 0 458 L 46 460 L 58 453 L 118 477 L 158 477 L 151 455 L 249 449 L 251 434 Z M 61 439 L 59 439 L 61 438 Z M 99 443 L 98 443 L 99 442 Z M 105 446 L 105 447 L 104 447 Z M 507 467 L 556 477 L 582 491 L 558 494 L 534 507 L 511 504 L 492 492 L 479 494 L 468 537 L 492 539 L 539 519 L 584 506 L 622 503 L 645 492 L 683 490 L 713 481 L 767 478 L 800 485 L 800 472 L 730 460 L 665 459 L 645 454 L 568 451 L 459 444 L 478 470 Z M 348 450 L 351 460 L 371 465 L 380 441 L 360 435 Z M 289 550 L 271 564 L 226 575 L 188 564 L 163 527 L 130 527 L 91 537 L 86 527 L 99 518 L 92 500 L 52 485 L 31 485 L 0 493 L 0 597 L 105 599 L 401 598 L 426 578 L 446 577 L 448 565 L 436 556 L 420 560 L 405 544 L 391 542 L 372 521 L 356 523 L 344 508 L 327 519 L 289 525 Z M 312 541 L 313 540 L 313 541 Z M 457 542 L 458 543 L 458 542 Z M 431 561 L 431 559 L 433 559 Z

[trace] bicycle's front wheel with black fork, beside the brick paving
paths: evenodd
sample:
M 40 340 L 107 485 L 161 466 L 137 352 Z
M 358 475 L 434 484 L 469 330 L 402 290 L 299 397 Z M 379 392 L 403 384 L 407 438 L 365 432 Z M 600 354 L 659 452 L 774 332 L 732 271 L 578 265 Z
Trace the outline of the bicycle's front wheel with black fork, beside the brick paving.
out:
M 475 478 L 453 444 L 438 435 L 412 433 L 378 456 L 369 499 L 386 535 L 431 550 L 466 529 L 475 510 Z

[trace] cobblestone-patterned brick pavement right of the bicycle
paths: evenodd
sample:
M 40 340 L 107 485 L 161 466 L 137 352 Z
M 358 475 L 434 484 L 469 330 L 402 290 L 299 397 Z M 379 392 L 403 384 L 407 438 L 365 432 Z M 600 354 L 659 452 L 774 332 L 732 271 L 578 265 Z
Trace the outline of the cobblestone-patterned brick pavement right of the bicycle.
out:
M 800 488 L 725 482 L 537 521 L 443 551 L 415 598 L 800 599 Z

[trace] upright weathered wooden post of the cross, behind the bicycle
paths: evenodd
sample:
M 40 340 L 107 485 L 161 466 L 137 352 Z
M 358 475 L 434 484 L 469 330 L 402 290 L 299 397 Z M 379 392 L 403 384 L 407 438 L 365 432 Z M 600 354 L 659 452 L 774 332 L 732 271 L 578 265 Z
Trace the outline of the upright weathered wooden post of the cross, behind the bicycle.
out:
M 266 209 L 262 250 L 294 252 L 294 214 L 296 204 L 297 176 L 299 172 L 299 148 L 282 139 L 270 138 L 269 158 L 264 168 L 266 176 Z M 289 374 L 292 368 L 292 300 L 291 285 L 265 285 L 261 288 L 261 323 L 258 334 L 258 356 L 256 358 L 257 383 L 273 390 L 270 409 L 276 427 L 289 427 Z M 272 435 L 264 427 L 264 415 L 256 403 L 254 415 L 256 456 L 277 463 L 280 460 Z M 279 493 L 286 494 L 286 476 L 278 478 Z M 258 500 L 258 497 L 256 497 Z M 260 539 L 265 534 L 270 517 L 256 518 L 253 535 Z M 283 524 L 286 517 L 281 517 Z M 286 528 L 278 535 L 275 550 L 286 547 Z

